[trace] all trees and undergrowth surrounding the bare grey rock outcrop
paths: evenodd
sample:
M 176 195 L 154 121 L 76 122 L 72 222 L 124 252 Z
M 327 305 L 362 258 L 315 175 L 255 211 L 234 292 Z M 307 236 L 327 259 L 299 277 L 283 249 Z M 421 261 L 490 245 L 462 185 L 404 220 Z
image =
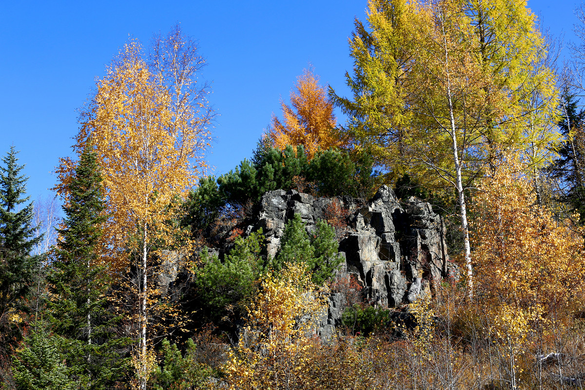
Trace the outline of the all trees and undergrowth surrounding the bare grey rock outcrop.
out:
M 250 159 L 219 177 L 204 174 L 215 113 L 196 42 L 178 26 L 130 40 L 60 161 L 50 248 L 8 151 L 2 388 L 583 386 L 583 45 L 559 69 L 521 0 L 367 7 L 352 96 L 305 71 Z M 291 218 L 274 257 L 261 229 L 243 231 L 266 191 L 365 203 L 382 184 L 433 205 L 464 271 L 411 305 L 371 306 L 339 276 L 338 204 L 314 230 Z M 343 316 L 324 342 L 331 293 Z

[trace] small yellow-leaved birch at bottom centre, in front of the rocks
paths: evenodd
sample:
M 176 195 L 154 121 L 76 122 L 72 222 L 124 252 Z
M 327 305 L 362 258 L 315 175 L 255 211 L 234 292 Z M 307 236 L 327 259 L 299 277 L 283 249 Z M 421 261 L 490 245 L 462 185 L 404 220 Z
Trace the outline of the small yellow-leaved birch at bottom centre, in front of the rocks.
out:
M 224 370 L 229 389 L 286 389 L 304 382 L 311 365 L 315 319 L 326 308 L 311 275 L 288 264 L 279 277 L 264 280 L 248 308 L 249 318 L 237 350 Z

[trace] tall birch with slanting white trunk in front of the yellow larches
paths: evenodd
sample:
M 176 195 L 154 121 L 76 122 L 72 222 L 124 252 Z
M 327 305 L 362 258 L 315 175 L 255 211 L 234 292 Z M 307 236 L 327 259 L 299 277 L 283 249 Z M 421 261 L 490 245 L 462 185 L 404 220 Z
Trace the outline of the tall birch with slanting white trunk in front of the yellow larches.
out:
M 473 271 L 467 205 L 464 190 L 469 178 L 481 168 L 474 152 L 480 146 L 483 113 L 497 110 L 500 99 L 484 94 L 491 79 L 474 61 L 473 29 L 457 1 L 442 1 L 421 9 L 428 22 L 422 26 L 425 45 L 412 68 L 418 85 L 410 91 L 413 111 L 408 130 L 411 164 L 420 165 L 455 187 L 463 230 L 464 263 L 469 295 L 473 295 Z M 467 182 L 464 179 L 467 178 Z

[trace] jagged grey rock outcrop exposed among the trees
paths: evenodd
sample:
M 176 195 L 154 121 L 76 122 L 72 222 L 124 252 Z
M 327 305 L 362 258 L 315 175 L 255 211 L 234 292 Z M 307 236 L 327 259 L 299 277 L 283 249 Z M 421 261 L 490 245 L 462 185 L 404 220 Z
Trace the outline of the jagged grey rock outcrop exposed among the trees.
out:
M 458 278 L 459 271 L 449 262 L 441 217 L 429 203 L 417 198 L 398 202 L 386 185 L 363 206 L 346 196 L 315 199 L 294 190 L 266 192 L 257 226 L 249 226 L 246 234 L 262 227 L 267 255 L 276 256 L 285 224 L 295 213 L 310 233 L 318 219 L 331 218 L 334 202 L 345 210 L 341 219 L 347 228 L 339 242 L 339 250 L 346 256 L 345 272 L 355 275 L 370 304 L 392 308 L 411 303 L 432 294 L 433 285 L 442 278 Z M 319 330 L 325 337 L 339 322 L 346 305 L 339 294 L 332 294 L 329 303 Z

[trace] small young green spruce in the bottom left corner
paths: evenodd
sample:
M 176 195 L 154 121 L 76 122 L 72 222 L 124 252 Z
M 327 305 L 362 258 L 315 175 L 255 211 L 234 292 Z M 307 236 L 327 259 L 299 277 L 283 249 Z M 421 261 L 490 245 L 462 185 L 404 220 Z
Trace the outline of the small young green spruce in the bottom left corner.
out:
M 23 345 L 13 357 L 16 390 L 73 390 L 69 369 L 59 351 L 59 338 L 51 336 L 43 323 L 34 323 Z

